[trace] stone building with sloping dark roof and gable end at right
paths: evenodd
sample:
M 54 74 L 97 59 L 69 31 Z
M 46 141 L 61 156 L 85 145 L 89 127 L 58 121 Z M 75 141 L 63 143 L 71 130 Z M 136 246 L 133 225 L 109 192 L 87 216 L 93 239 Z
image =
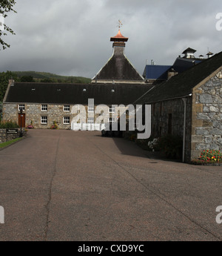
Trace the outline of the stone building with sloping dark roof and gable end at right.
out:
M 136 101 L 152 105 L 152 136 L 178 135 L 183 160 L 222 150 L 222 52 L 156 85 Z

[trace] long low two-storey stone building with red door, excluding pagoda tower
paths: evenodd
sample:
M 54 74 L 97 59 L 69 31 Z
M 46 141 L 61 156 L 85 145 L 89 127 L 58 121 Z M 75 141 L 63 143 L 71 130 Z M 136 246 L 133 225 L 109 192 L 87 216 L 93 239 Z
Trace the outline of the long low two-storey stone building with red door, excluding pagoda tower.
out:
M 88 100 L 94 99 L 94 107 L 102 104 L 110 107 L 104 122 L 115 122 L 112 120 L 112 105 L 127 106 L 146 92 L 147 86 L 135 84 L 16 83 L 10 80 L 4 96 L 3 120 L 12 120 L 19 125 L 22 122 L 22 126 L 33 123 L 35 128 L 50 128 L 56 122 L 58 128 L 70 129 L 73 117 L 77 115 L 72 113 L 75 105 L 84 105 L 87 113 L 85 122 L 94 122 L 98 114 L 94 114 L 93 107 L 88 109 Z

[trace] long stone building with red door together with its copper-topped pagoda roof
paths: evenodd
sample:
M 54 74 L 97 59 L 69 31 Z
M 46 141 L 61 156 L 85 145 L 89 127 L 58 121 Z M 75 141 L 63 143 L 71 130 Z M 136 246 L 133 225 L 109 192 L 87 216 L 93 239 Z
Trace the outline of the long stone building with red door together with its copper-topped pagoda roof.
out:
M 111 37 L 113 54 L 90 84 L 55 84 L 14 82 L 10 80 L 3 101 L 3 120 L 13 120 L 19 125 L 31 123 L 35 128 L 50 128 L 56 122 L 58 128 L 70 129 L 76 115 L 75 105 L 84 105 L 86 119 L 78 121 L 80 128 L 95 122 L 97 105 L 107 105 L 110 110 L 104 116 L 104 123 L 115 122 L 115 106 L 130 105 L 152 86 L 135 70 L 124 54 L 128 38 L 118 34 Z M 88 108 L 88 100 L 94 99 L 94 106 Z M 20 114 L 22 109 L 22 114 Z M 89 125 L 88 125 L 89 126 Z

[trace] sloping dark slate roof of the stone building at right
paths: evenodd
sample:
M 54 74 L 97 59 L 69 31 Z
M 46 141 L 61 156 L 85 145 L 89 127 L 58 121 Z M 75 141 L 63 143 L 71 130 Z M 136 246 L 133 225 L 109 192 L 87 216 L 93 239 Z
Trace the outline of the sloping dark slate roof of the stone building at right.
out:
M 222 52 L 209 59 L 173 76 L 166 82 L 156 85 L 148 93 L 135 101 L 136 104 L 164 101 L 166 99 L 180 98 L 192 93 L 192 88 L 203 79 L 222 67 Z

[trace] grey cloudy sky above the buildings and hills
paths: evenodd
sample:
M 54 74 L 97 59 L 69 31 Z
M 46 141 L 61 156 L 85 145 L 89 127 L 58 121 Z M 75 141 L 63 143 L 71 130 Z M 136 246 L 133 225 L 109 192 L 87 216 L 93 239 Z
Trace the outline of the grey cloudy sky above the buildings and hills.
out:
M 221 0 L 17 0 L 5 24 L 16 36 L 4 40 L 0 72 L 44 71 L 90 77 L 112 56 L 110 37 L 129 37 L 125 53 L 143 73 L 146 62 L 172 65 L 187 48 L 195 56 L 222 50 Z

